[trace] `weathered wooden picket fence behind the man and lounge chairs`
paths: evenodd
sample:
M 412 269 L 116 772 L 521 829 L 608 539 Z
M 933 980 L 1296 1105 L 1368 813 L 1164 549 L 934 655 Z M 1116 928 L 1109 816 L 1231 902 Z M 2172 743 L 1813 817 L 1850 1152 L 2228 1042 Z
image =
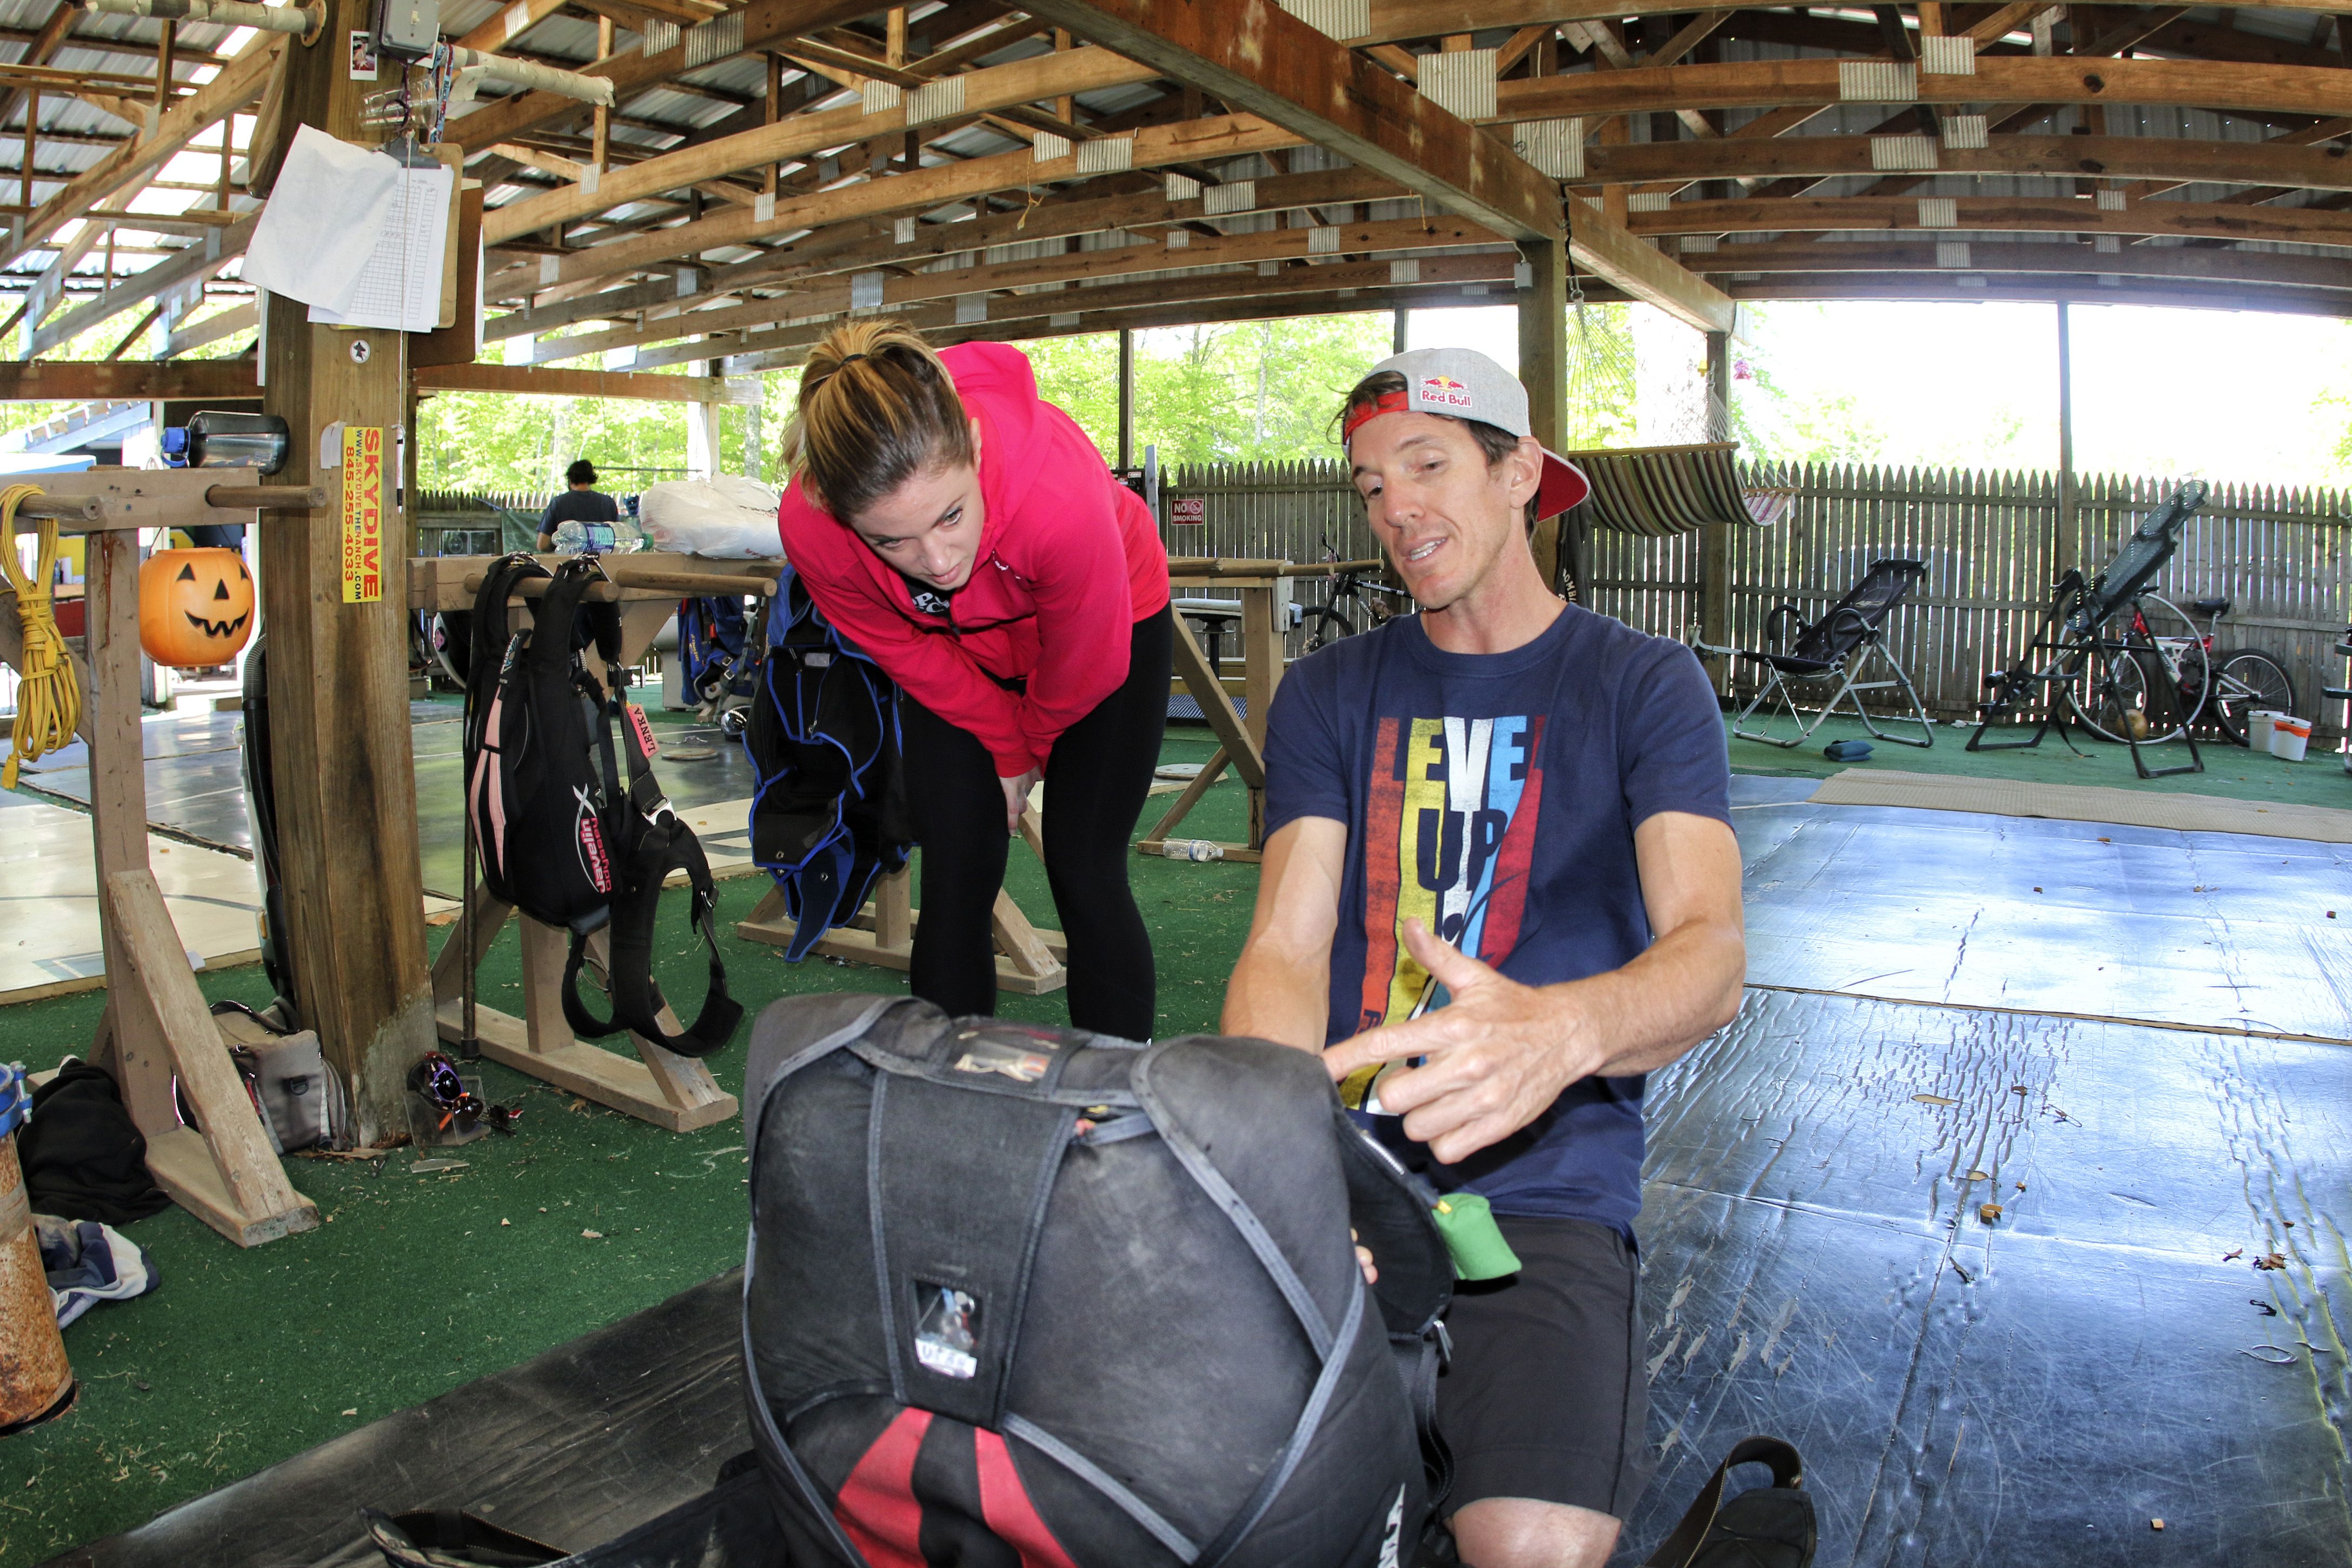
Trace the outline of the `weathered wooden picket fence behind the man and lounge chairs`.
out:
M 1811 621 L 1875 559 L 1924 562 L 1926 581 L 1889 621 L 1889 646 L 1929 712 L 1945 719 L 1973 717 L 1985 672 L 2009 663 L 2039 628 L 2060 562 L 2096 574 L 2178 484 L 2084 475 L 2074 536 L 2060 538 L 2056 473 L 1804 465 L 1750 482 L 1795 498 L 1776 527 L 1731 529 L 1729 639 L 1764 646 L 1776 604 L 1795 604 Z M 1338 463 L 1176 468 L 1160 517 L 1169 550 L 1181 555 L 1312 562 L 1376 552 Z M 1698 534 L 1635 538 L 1595 529 L 1592 609 L 1661 637 L 1693 637 L 1705 595 L 1700 545 Z M 1298 592 L 1315 599 L 1322 585 L 1305 578 Z M 2340 731 L 2343 705 L 2321 703 L 2319 689 L 2345 675 L 2333 644 L 2352 623 L 2352 496 L 2216 484 L 2154 592 L 2183 607 L 2227 597 L 2218 646 L 2277 658 L 2321 736 Z M 1733 696 L 1743 689 L 1733 686 Z

